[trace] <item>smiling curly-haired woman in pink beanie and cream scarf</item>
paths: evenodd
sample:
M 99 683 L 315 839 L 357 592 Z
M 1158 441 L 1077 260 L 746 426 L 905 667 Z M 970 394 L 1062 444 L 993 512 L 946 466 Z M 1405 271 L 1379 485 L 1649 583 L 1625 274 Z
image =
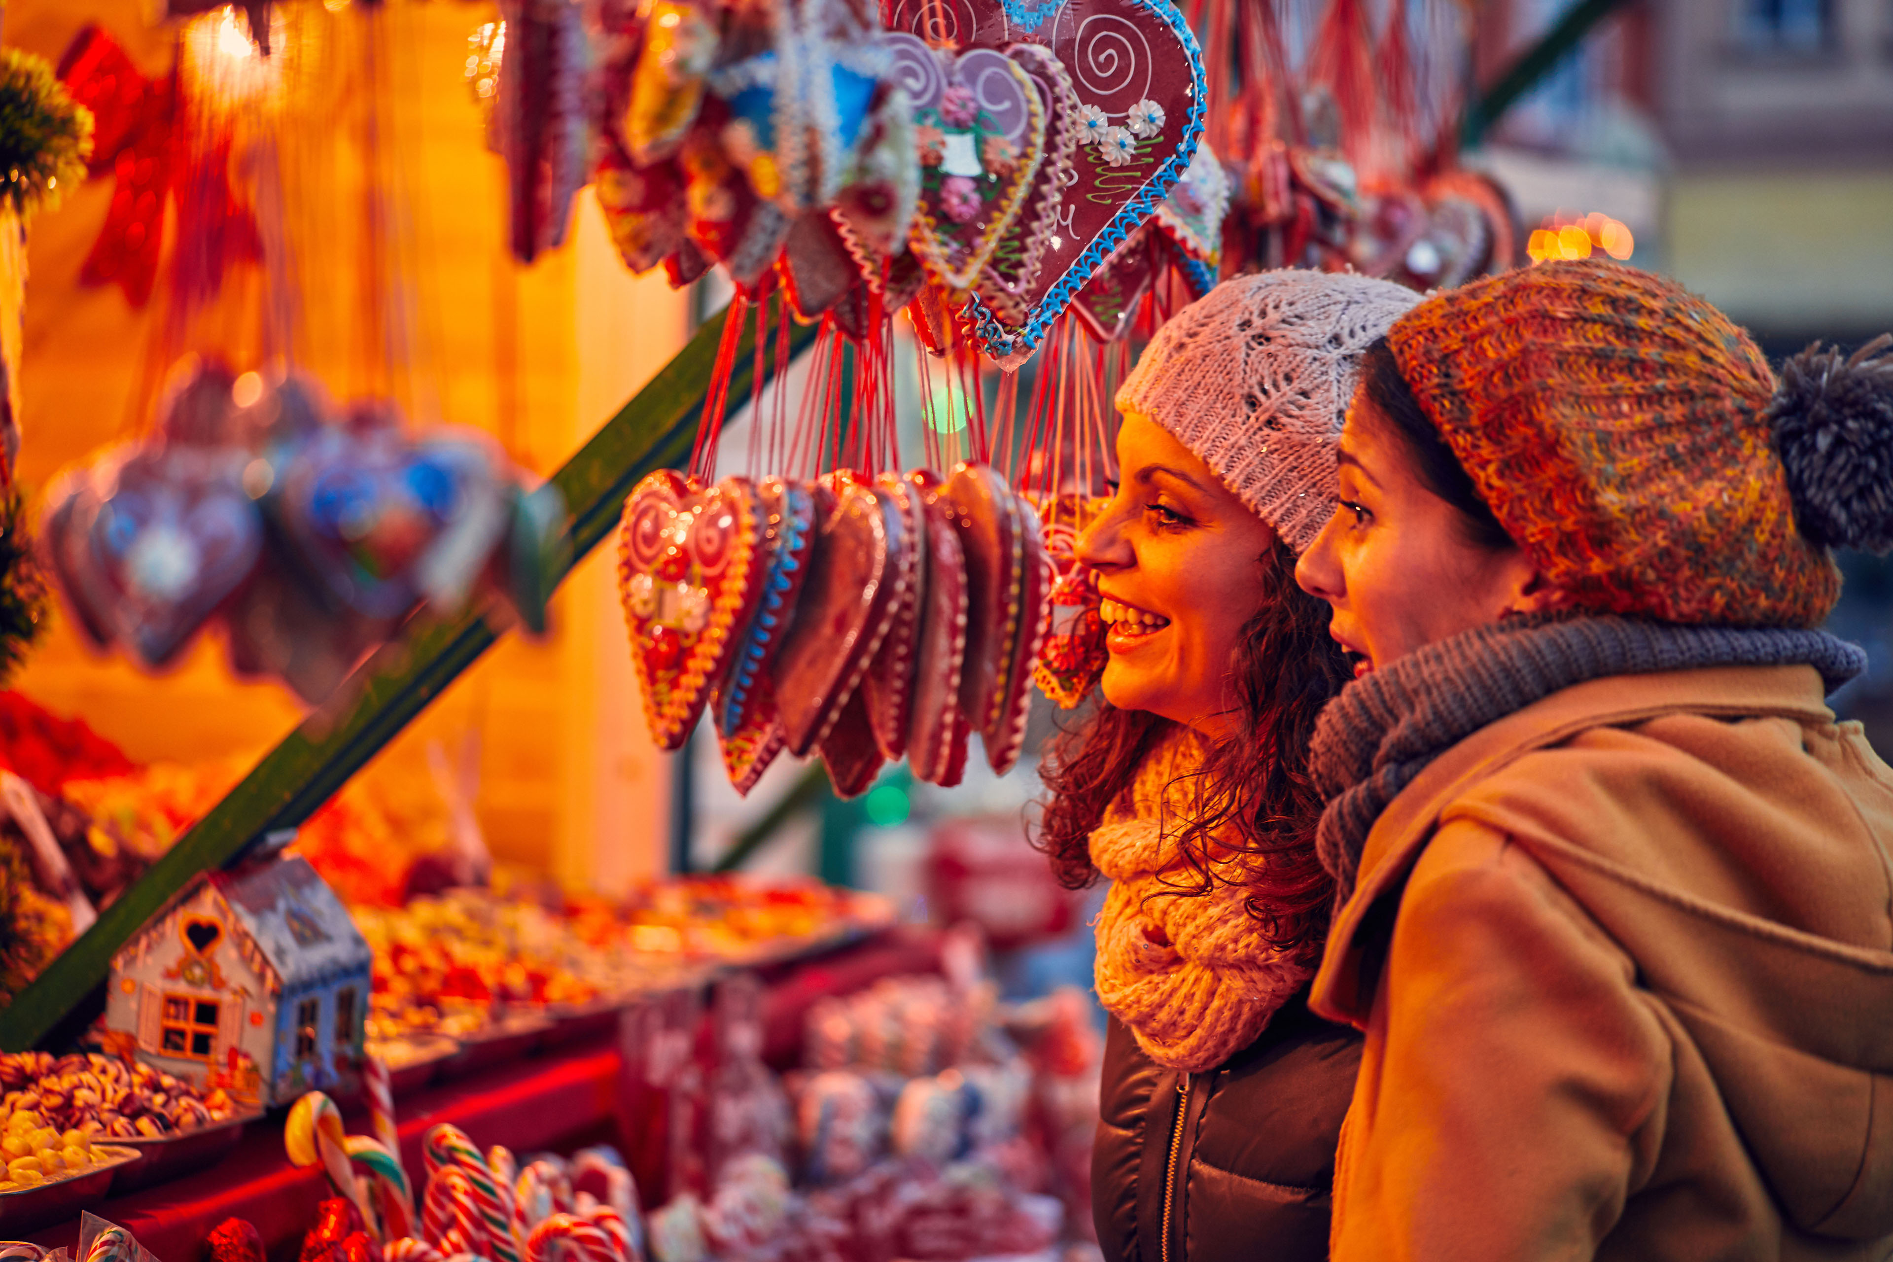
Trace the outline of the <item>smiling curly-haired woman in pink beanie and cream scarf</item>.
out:
M 1268 272 L 1174 316 L 1117 395 L 1117 494 L 1079 539 L 1104 702 L 1056 753 L 1041 846 L 1106 876 L 1111 1016 L 1092 1207 L 1109 1262 L 1318 1262 L 1357 1037 L 1308 1014 L 1333 882 L 1316 713 L 1346 681 L 1295 587 L 1361 352 L 1418 301 Z

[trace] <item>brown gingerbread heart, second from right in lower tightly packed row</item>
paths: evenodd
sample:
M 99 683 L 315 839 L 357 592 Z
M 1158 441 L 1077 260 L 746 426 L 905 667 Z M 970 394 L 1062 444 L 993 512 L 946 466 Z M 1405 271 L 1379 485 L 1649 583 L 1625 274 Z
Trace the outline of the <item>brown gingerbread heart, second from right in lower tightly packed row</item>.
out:
M 990 465 L 962 464 L 946 479 L 945 498 L 965 554 L 965 666 L 960 675 L 960 708 L 967 725 L 982 732 L 1001 704 L 1007 662 L 1018 634 L 1018 501 Z

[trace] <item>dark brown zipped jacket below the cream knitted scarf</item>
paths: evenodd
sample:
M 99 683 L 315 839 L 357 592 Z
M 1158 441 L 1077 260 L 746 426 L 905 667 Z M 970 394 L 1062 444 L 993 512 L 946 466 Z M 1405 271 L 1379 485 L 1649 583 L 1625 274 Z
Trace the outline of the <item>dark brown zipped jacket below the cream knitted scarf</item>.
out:
M 1090 1158 L 1106 1262 L 1327 1258 L 1335 1145 L 1359 1063 L 1361 1037 L 1308 1012 L 1306 991 L 1210 1073 L 1160 1069 L 1111 1018 Z

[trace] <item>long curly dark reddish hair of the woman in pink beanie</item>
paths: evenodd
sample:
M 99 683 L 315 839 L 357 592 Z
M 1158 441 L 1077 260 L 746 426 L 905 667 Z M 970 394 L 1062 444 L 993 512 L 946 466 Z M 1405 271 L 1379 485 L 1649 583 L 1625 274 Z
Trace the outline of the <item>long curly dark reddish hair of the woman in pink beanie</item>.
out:
M 1308 745 L 1321 708 L 1348 681 L 1348 664 L 1327 634 L 1325 600 L 1295 585 L 1295 552 L 1282 541 L 1259 558 L 1263 607 L 1242 626 L 1230 670 L 1236 732 L 1204 761 L 1204 804 L 1177 836 L 1196 884 L 1179 895 L 1210 893 L 1242 863 L 1246 901 L 1263 935 L 1280 950 L 1318 950 L 1327 937 L 1335 882 L 1316 857 L 1321 795 L 1308 778 Z M 1138 766 L 1174 725 L 1140 710 L 1098 700 L 1088 723 L 1062 734 L 1045 761 L 1045 804 L 1037 846 L 1068 889 L 1098 878 L 1090 833 L 1113 802 L 1126 800 Z M 1212 865 L 1212 861 L 1217 861 Z

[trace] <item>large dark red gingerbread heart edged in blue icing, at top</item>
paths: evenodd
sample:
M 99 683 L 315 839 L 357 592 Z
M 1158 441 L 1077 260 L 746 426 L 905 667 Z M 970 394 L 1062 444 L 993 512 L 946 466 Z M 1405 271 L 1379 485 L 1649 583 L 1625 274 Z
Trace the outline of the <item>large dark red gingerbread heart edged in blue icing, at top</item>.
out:
M 1037 44 L 1070 76 L 1079 146 L 1058 227 L 1009 320 L 977 295 L 965 312 L 988 354 L 1018 361 L 1189 168 L 1204 115 L 1196 38 L 1170 0 L 893 0 L 888 28 L 960 59 Z

